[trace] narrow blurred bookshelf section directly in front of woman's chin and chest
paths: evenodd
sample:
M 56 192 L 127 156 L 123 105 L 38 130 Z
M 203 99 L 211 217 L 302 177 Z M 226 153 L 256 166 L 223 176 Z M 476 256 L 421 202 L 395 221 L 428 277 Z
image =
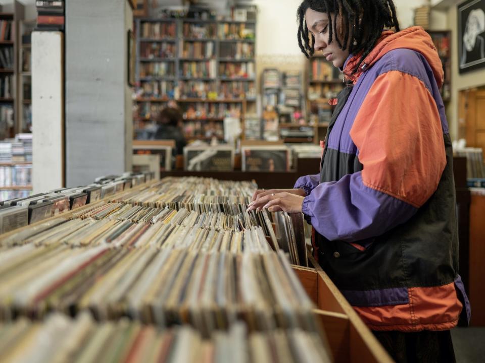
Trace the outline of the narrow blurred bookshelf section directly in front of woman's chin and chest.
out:
M 310 59 L 308 72 L 307 112 L 309 124 L 314 128 L 313 142 L 325 139 L 333 107 L 328 100 L 344 88 L 340 71 L 323 56 Z

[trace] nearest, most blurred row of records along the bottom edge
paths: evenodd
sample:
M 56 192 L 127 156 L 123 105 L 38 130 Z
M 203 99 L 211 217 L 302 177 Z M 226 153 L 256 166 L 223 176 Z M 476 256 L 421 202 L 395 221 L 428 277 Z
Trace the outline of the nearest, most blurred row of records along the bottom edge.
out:
M 128 319 L 98 323 L 87 312 L 74 320 L 53 314 L 42 324 L 19 320 L 0 328 L 10 342 L 0 348 L 0 354 L 11 361 L 331 361 L 328 347 L 318 332 L 301 329 L 251 332 L 240 322 L 209 337 L 190 326 L 162 328 Z

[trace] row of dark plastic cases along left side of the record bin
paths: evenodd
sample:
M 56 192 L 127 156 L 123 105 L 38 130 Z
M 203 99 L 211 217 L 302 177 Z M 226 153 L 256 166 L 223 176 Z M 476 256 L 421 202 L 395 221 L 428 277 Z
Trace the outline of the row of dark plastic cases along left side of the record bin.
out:
M 153 174 L 124 174 L 96 179 L 85 187 L 62 188 L 39 193 L 27 198 L 9 199 L 0 202 L 0 233 L 54 217 L 71 209 L 93 203 L 125 188 L 151 180 Z

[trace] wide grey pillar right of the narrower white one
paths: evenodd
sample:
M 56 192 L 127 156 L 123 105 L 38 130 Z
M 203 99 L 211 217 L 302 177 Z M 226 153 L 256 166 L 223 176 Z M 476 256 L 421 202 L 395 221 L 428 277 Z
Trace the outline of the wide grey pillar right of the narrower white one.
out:
M 66 186 L 131 169 L 127 0 L 66 2 Z

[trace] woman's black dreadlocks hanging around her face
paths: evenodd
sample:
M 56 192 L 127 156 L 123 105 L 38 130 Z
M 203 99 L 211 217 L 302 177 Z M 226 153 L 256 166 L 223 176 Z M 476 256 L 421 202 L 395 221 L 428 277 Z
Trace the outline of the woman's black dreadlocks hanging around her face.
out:
M 328 27 L 328 43 L 333 40 L 337 15 L 341 15 L 344 34 L 342 41 L 340 36 L 335 35 L 338 46 L 346 49 L 349 43 L 350 53 L 362 52 L 352 73 L 357 72 L 365 57 L 374 48 L 384 28 L 394 28 L 399 31 L 393 0 L 304 0 L 297 11 L 298 45 L 307 58 L 315 53 L 315 37 L 313 34 L 309 35 L 305 22 L 305 13 L 308 9 L 327 14 L 328 22 L 332 25 Z M 362 27 L 363 24 L 365 29 Z M 349 42 L 349 38 L 354 39 L 357 45 L 354 45 L 354 40 Z

